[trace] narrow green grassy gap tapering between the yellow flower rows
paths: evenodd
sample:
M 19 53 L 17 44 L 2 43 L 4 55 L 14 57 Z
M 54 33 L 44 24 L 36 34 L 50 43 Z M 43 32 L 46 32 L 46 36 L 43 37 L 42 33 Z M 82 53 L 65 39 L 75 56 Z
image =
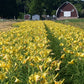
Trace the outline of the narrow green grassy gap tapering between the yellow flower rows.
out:
M 52 49 L 52 52 L 50 53 L 50 55 L 52 56 L 52 57 L 55 57 L 57 60 L 59 60 L 60 59 L 60 57 L 61 57 L 61 51 L 62 51 L 62 49 L 63 49 L 63 47 L 61 47 L 61 46 L 59 46 L 59 44 L 60 44 L 60 41 L 58 40 L 58 38 L 56 38 L 55 36 L 54 36 L 54 34 L 50 31 L 50 29 L 47 27 L 47 25 L 45 24 L 45 29 L 46 29 L 46 31 L 47 31 L 47 38 L 49 39 L 49 49 Z

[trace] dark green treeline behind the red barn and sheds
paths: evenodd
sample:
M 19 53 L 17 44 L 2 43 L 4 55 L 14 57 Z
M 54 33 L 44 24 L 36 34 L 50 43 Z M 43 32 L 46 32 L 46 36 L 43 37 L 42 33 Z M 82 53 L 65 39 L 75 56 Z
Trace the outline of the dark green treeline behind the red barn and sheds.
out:
M 55 15 L 57 8 L 67 0 L 0 0 L 0 17 L 23 18 L 24 14 Z M 80 17 L 84 17 L 84 2 L 68 0 L 74 4 Z

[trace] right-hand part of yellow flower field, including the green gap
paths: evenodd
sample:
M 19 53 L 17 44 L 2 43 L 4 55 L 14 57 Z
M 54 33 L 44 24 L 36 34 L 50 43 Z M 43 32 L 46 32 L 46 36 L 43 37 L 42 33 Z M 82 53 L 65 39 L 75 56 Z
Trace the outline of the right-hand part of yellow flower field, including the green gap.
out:
M 62 61 L 58 80 L 65 78 L 64 84 L 84 84 L 84 30 L 51 21 L 45 24 L 51 48 Z

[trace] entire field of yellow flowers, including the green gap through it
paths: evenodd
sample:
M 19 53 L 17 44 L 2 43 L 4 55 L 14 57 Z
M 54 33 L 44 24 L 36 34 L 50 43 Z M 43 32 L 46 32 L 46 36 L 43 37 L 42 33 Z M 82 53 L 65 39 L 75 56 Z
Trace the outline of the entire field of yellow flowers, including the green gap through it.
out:
M 0 32 L 0 84 L 84 84 L 84 30 L 24 21 Z

